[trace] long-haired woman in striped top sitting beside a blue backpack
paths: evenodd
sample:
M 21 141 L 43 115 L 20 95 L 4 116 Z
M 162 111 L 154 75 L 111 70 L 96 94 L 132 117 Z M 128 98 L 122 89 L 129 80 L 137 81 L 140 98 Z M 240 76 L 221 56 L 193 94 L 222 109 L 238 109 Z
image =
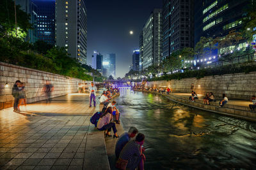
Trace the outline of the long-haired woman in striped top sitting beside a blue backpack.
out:
M 117 130 L 116 130 L 116 124 L 114 122 L 110 122 L 112 118 L 112 108 L 108 108 L 105 113 L 103 113 L 100 118 L 99 121 L 97 123 L 97 129 L 99 129 L 100 131 L 106 131 L 108 130 L 108 132 L 106 132 L 106 137 L 108 136 L 112 136 L 110 135 L 111 132 L 111 128 L 113 129 L 114 132 L 114 136 L 113 138 L 118 138 L 119 136 L 117 135 Z

